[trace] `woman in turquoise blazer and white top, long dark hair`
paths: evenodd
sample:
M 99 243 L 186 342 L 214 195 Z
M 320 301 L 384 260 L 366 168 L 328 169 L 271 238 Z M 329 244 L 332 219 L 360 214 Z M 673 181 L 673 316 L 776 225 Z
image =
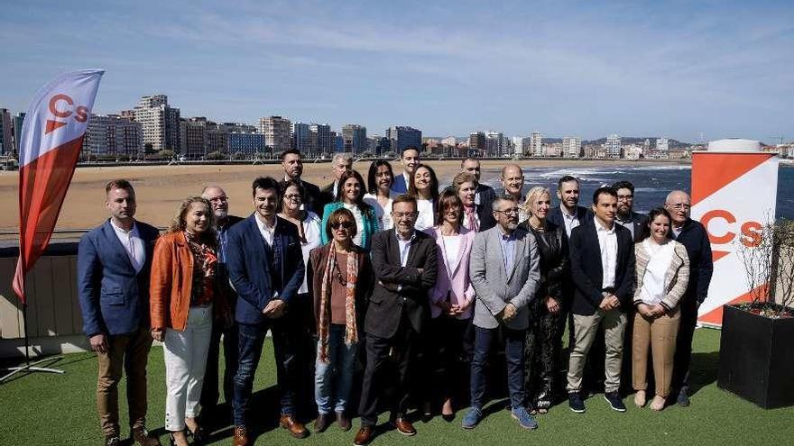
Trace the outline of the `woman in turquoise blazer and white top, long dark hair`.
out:
M 328 203 L 323 209 L 323 219 L 321 228 L 326 227 L 328 216 L 339 209 L 346 208 L 355 217 L 355 238 L 353 242 L 365 250 L 370 249 L 372 236 L 378 232 L 378 220 L 375 217 L 375 210 L 371 205 L 364 202 L 366 185 L 364 177 L 355 170 L 348 170 L 339 178 L 337 196 L 332 203 Z M 328 234 L 321 233 L 322 243 L 328 243 Z

